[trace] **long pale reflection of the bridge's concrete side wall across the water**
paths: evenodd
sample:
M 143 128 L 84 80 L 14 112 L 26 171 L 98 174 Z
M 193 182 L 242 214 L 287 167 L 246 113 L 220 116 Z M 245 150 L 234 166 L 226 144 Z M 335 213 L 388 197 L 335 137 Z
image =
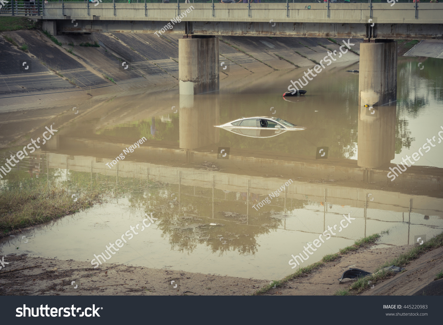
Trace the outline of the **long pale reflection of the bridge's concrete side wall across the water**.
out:
M 129 178 L 146 179 L 148 177 L 150 180 L 162 183 L 180 184 L 180 186 L 214 187 L 214 189 L 235 192 L 248 192 L 249 183 L 249 192 L 263 195 L 263 198 L 271 191 L 276 191 L 289 178 L 286 180 L 267 177 L 251 178 L 228 172 L 211 172 L 128 160 L 119 161 L 115 168 L 109 169 L 105 165 L 106 159 L 104 162 L 97 163 L 95 157 L 75 156 L 74 161 L 68 161 L 66 158 L 67 156 L 63 154 L 48 153 L 49 167 L 62 169 L 68 167 L 68 169 L 78 172 L 98 172 L 106 176 L 117 176 L 118 174 L 120 177 Z M 291 174 L 293 175 L 293 172 Z M 340 206 L 364 208 L 367 204 L 369 208 L 377 210 L 404 213 L 411 211 L 411 213 L 443 216 L 441 209 L 442 199 L 439 198 L 407 195 L 390 191 L 369 191 L 365 188 L 349 186 L 297 182 L 295 178 L 293 181 L 294 183 L 288 187 L 287 193 L 281 193 L 280 197 L 286 196 L 287 199 L 305 200 L 305 195 L 308 195 L 311 201 L 326 201 Z M 367 196 L 368 192 L 372 194 L 369 199 Z M 372 197 L 375 198 L 375 201 L 371 201 Z M 410 203 L 411 198 L 414 201 L 412 204 Z M 252 204 L 249 207 L 249 210 L 251 209 Z

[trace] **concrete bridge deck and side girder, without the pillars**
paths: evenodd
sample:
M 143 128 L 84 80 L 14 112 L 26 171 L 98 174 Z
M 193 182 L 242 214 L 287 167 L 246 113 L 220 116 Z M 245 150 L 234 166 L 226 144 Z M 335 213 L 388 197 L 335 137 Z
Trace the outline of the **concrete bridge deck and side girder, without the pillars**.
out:
M 99 1 L 99 0 L 97 0 Z M 214 0 L 213 0 L 214 1 Z M 140 1 L 141 2 L 141 1 Z M 443 38 L 443 4 L 43 4 L 42 19 L 62 32 L 339 38 Z M 75 19 L 75 22 L 72 22 Z M 74 25 L 77 25 L 74 27 Z M 371 25 L 374 26 L 371 26 Z

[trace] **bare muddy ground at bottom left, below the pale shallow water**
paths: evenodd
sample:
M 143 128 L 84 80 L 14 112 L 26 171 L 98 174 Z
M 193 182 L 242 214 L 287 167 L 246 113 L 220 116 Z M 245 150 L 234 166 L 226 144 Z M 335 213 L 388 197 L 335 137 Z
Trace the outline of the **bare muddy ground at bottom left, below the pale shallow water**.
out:
M 0 271 L 0 295 L 248 295 L 269 283 L 117 264 L 94 269 L 86 262 L 26 254 L 7 255 L 4 261 L 10 264 Z M 74 289 L 76 284 L 80 287 Z

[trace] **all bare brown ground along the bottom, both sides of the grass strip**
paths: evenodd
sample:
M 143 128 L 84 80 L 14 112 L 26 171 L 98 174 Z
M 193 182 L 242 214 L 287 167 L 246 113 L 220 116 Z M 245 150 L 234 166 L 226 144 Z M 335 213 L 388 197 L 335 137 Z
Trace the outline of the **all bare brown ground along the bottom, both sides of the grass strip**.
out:
M 348 268 L 373 272 L 380 264 L 411 249 L 412 245 L 361 249 L 326 263 L 309 275 L 292 279 L 265 295 L 333 295 L 354 280 L 338 278 Z M 0 271 L 1 295 L 249 295 L 269 280 L 206 275 L 184 271 L 109 264 L 91 268 L 89 263 L 23 255 L 5 256 Z M 406 271 L 377 284 L 363 295 L 412 295 L 432 283 L 443 269 L 443 248 L 427 252 L 408 264 Z M 71 285 L 72 281 L 75 281 Z M 172 281 L 175 281 L 171 284 Z M 74 288 L 79 284 L 78 288 Z M 176 288 L 174 288 L 177 286 Z

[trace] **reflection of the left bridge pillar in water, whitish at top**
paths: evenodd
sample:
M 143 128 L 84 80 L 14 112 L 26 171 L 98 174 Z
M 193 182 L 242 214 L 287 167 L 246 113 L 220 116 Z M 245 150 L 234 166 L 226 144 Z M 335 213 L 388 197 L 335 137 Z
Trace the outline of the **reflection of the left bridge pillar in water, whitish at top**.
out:
M 218 93 L 180 95 L 180 149 L 197 149 L 219 141 Z

